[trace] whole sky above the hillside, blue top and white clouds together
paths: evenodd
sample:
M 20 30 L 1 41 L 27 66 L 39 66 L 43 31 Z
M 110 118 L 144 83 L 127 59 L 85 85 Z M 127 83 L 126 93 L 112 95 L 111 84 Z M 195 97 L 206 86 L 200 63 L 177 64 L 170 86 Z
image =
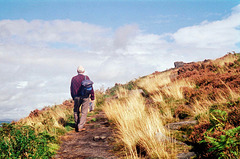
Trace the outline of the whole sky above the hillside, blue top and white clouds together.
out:
M 0 0 L 0 120 L 240 50 L 239 0 Z

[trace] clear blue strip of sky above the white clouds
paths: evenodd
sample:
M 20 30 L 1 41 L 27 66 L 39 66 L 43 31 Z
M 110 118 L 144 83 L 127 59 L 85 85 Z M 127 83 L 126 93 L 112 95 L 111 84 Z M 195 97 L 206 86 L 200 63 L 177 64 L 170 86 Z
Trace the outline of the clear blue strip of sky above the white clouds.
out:
M 237 0 L 1 0 L 0 19 L 71 19 L 118 28 L 138 24 L 153 32 L 174 32 L 180 27 L 218 20 L 230 14 Z M 169 25 L 174 24 L 174 25 Z

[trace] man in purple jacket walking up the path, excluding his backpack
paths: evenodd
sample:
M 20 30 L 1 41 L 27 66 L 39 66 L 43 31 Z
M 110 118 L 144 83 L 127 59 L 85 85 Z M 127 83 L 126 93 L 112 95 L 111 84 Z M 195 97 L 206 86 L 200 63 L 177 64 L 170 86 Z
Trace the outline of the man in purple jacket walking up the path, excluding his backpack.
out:
M 77 68 L 78 75 L 74 76 L 71 81 L 71 96 L 74 100 L 74 121 L 75 121 L 75 131 L 84 131 L 84 125 L 87 119 L 88 107 L 90 102 L 94 101 L 94 90 L 87 97 L 80 96 L 80 88 L 83 80 L 90 80 L 89 77 L 83 75 L 85 69 L 83 66 Z M 92 101 L 90 101 L 90 98 Z M 79 108 L 81 107 L 81 119 L 79 119 Z

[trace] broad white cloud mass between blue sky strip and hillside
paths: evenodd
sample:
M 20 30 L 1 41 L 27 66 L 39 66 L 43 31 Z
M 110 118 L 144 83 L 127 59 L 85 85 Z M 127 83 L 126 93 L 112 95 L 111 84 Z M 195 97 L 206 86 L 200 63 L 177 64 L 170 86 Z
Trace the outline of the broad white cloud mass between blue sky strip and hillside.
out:
M 70 98 L 70 81 L 79 64 L 95 88 L 106 88 L 171 68 L 174 61 L 239 51 L 239 8 L 222 20 L 164 35 L 145 33 L 135 24 L 112 30 L 71 20 L 2 20 L 0 120 Z

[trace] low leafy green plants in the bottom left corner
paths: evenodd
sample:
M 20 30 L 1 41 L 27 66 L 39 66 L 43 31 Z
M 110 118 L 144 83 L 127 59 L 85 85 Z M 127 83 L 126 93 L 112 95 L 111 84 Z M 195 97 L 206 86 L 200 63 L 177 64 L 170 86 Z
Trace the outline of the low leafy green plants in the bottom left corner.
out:
M 58 144 L 44 131 L 36 134 L 30 126 L 3 124 L 0 128 L 0 158 L 51 158 Z

